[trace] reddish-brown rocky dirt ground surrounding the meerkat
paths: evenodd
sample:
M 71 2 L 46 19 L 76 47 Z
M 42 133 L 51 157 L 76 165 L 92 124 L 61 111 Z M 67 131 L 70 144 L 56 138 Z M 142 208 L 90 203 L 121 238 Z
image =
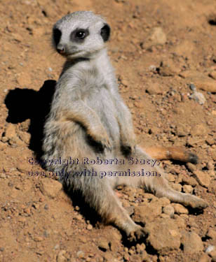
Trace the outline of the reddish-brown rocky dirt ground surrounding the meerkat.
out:
M 200 159 L 162 164 L 176 190 L 209 203 L 203 212 L 119 187 L 149 231 L 139 243 L 97 221 L 34 163 L 64 62 L 52 26 L 76 10 L 112 28 L 109 55 L 140 144 L 182 146 Z M 216 261 L 216 1 L 0 0 L 0 11 L 0 261 Z

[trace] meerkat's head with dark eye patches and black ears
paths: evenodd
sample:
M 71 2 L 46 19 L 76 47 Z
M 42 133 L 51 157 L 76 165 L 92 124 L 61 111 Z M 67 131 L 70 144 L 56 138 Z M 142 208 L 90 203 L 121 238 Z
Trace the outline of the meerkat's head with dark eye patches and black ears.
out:
M 90 11 L 74 12 L 62 17 L 53 27 L 53 46 L 68 60 L 90 58 L 108 41 L 107 22 Z

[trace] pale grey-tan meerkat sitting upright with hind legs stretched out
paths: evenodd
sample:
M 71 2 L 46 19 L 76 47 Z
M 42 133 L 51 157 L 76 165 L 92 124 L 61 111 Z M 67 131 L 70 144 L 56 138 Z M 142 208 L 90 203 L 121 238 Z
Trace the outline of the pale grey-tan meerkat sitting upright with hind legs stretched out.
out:
M 67 61 L 44 126 L 43 161 L 78 159 L 72 165 L 47 164 L 46 168 L 60 172 L 60 181 L 67 188 L 80 191 L 104 221 L 115 224 L 133 240 L 144 236 L 144 228 L 135 224 L 117 198 L 114 188 L 120 184 L 142 187 L 192 208 L 208 204 L 172 189 L 158 166 L 129 163 L 130 159 L 147 161 L 151 157 L 136 143 L 132 117 L 121 99 L 107 55 L 109 36 L 106 20 L 90 11 L 71 13 L 54 25 L 53 47 Z M 169 154 L 163 152 L 165 158 Z M 181 159 L 180 154 L 176 158 Z M 190 158 L 194 157 L 183 157 Z M 83 159 L 103 161 L 88 163 Z M 124 164 L 107 159 L 121 159 Z M 148 175 L 140 173 L 143 168 Z M 151 172 L 154 175 L 149 175 Z

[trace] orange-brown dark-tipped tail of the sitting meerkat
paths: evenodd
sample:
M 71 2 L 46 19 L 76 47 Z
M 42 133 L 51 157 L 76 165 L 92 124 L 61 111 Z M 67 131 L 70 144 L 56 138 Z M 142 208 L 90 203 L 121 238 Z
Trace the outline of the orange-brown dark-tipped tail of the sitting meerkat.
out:
M 147 147 L 144 149 L 149 156 L 158 160 L 178 160 L 182 162 L 198 163 L 196 154 L 188 152 L 182 147 Z

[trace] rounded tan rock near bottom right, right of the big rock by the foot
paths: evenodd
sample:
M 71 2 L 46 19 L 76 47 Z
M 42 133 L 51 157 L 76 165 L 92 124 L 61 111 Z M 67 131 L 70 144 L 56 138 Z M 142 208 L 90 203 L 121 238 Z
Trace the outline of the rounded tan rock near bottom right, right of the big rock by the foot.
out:
M 203 242 L 195 232 L 185 233 L 182 236 L 182 245 L 184 247 L 184 253 L 187 254 L 203 251 Z

